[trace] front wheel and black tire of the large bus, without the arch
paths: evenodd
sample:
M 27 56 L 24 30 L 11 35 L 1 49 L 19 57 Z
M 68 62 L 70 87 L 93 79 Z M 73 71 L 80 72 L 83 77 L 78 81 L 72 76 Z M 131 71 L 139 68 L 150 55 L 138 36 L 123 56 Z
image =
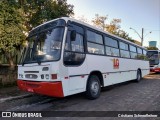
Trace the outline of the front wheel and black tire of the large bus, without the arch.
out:
M 100 96 L 101 85 L 100 80 L 96 75 L 91 75 L 87 82 L 86 97 L 94 100 Z

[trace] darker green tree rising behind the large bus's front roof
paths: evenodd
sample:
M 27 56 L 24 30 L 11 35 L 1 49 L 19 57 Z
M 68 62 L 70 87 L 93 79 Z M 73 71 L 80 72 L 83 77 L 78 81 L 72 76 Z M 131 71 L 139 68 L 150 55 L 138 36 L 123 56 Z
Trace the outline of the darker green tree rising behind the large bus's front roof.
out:
M 67 0 L 19 0 L 19 3 L 24 9 L 28 30 L 46 21 L 74 14 L 73 5 L 67 4 Z

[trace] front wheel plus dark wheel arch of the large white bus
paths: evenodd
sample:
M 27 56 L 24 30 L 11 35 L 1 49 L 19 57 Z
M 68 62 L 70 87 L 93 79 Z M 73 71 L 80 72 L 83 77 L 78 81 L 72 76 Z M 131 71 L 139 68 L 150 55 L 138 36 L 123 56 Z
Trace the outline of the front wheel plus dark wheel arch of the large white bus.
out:
M 103 86 L 103 76 L 99 71 L 93 71 L 90 73 L 85 95 L 88 99 L 94 100 L 100 96 L 101 86 Z

